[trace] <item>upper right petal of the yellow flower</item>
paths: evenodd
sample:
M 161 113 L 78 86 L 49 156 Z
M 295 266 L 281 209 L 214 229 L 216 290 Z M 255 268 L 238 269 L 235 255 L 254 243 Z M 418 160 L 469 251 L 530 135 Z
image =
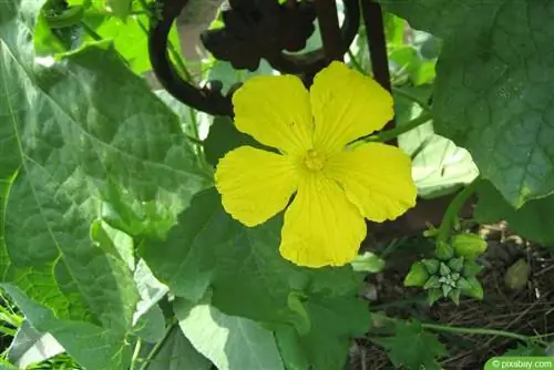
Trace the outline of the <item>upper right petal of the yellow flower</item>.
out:
M 310 89 L 317 148 L 340 151 L 346 144 L 381 130 L 393 116 L 390 93 L 373 79 L 332 62 Z

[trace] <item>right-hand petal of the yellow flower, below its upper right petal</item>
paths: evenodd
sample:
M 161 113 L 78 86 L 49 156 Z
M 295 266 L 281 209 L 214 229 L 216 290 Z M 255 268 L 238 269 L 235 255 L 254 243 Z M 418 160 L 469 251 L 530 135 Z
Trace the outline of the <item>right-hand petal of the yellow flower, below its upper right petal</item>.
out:
M 396 146 L 367 143 L 345 150 L 329 160 L 326 171 L 371 220 L 394 219 L 416 205 L 410 157 Z

